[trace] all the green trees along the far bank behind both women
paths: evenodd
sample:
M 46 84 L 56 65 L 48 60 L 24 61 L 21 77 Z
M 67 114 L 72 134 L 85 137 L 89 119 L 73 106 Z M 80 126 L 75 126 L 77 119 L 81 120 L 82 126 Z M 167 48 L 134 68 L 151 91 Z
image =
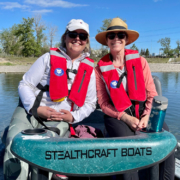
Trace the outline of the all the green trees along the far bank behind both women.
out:
M 97 32 L 105 31 L 112 19 L 102 21 L 102 26 Z M 126 22 L 126 20 L 123 20 Z M 48 36 L 44 33 L 48 30 Z M 53 41 L 57 35 L 57 26 L 45 25 L 41 19 L 41 15 L 36 15 L 32 18 L 23 18 L 21 24 L 14 24 L 9 29 L 4 29 L 0 32 L 0 53 L 5 52 L 11 55 L 40 56 L 49 51 Z M 161 38 L 157 43 L 161 44 L 162 55 L 166 57 L 174 57 L 180 55 L 180 41 L 177 40 L 177 47 L 171 49 L 171 39 L 169 37 Z M 59 43 L 55 45 L 58 47 Z M 135 44 L 132 44 L 130 49 L 138 50 Z M 138 50 L 139 51 L 139 50 Z M 106 46 L 102 46 L 99 50 L 91 51 L 91 58 L 101 58 L 109 52 Z M 150 56 L 149 49 L 141 49 L 140 55 Z

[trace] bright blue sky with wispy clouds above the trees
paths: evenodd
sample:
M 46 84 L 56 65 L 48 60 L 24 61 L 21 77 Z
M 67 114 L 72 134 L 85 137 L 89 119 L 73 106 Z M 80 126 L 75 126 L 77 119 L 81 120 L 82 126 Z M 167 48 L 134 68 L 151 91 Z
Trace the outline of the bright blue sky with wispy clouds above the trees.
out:
M 171 48 L 180 40 L 180 0 L 0 0 L 0 31 L 37 13 L 46 24 L 58 27 L 57 41 L 71 19 L 83 19 L 90 26 L 91 47 L 95 49 L 101 47 L 95 36 L 102 21 L 117 16 L 140 33 L 135 41 L 139 50 L 159 53 L 159 39 L 171 38 Z

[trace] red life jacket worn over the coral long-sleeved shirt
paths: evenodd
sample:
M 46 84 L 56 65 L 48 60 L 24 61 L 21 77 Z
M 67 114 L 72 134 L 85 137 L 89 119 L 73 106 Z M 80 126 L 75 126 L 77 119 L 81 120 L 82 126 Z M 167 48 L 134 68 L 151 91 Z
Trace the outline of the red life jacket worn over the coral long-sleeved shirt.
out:
M 119 75 L 112 61 L 110 60 L 109 55 L 110 54 L 105 55 L 98 62 L 98 66 L 100 67 L 106 87 L 108 89 L 108 93 L 115 108 L 119 112 L 122 112 L 132 105 L 131 100 L 136 102 L 146 100 L 146 91 L 141 60 L 138 51 L 127 49 L 125 50 L 125 64 L 128 87 L 127 95 L 122 83 L 119 88 L 117 87 Z M 138 116 L 138 112 L 136 112 L 136 117 Z

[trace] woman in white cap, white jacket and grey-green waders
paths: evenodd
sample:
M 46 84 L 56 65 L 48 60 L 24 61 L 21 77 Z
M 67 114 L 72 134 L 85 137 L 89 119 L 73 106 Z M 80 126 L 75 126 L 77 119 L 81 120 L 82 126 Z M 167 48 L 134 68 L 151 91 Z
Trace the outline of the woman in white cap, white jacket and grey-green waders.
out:
M 72 19 L 62 35 L 61 47 L 51 48 L 24 74 L 18 87 L 22 104 L 14 112 L 7 135 L 6 180 L 27 179 L 27 164 L 10 152 L 11 140 L 17 133 L 42 126 L 49 129 L 48 125 L 64 136 L 69 124 L 82 121 L 94 111 L 96 82 L 89 49 L 89 25 Z M 74 133 L 72 126 L 70 131 Z

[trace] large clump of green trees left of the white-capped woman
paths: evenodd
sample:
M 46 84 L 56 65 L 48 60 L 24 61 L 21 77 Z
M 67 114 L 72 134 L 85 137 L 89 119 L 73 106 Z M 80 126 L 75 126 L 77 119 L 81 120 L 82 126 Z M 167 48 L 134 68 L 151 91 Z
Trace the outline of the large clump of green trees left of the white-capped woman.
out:
M 48 37 L 45 30 L 48 31 Z M 14 24 L 0 32 L 0 52 L 38 57 L 49 51 L 57 32 L 57 26 L 45 25 L 41 15 L 23 18 L 20 24 Z

